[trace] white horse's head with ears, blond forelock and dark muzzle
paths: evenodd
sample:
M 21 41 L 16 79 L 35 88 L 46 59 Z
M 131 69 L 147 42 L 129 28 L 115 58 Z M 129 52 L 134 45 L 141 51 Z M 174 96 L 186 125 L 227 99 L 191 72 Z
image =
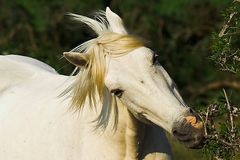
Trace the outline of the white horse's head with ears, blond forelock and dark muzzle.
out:
M 73 106 L 79 109 L 88 97 L 92 104 L 100 100 L 103 108 L 111 107 L 106 101 L 117 99 L 140 121 L 164 128 L 189 148 L 199 146 L 203 123 L 183 101 L 156 54 L 129 35 L 109 8 L 99 15 L 94 20 L 71 14 L 98 35 L 64 53 L 80 70 L 72 87 Z

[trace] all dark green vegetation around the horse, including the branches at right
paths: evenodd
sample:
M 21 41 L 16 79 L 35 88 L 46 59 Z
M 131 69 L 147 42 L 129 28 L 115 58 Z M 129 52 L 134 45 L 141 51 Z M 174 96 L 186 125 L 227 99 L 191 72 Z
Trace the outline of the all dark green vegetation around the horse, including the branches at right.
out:
M 91 15 L 110 6 L 130 33 L 160 55 L 184 99 L 205 121 L 203 150 L 187 150 L 171 140 L 175 159 L 240 159 L 239 5 L 229 0 L 2 0 L 0 52 L 34 57 L 70 74 L 73 67 L 62 52 L 95 35 L 65 13 Z

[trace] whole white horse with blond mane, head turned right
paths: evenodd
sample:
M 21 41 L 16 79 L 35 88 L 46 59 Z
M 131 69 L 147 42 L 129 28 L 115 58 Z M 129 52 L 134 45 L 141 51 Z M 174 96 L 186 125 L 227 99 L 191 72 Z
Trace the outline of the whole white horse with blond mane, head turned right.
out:
M 64 53 L 76 76 L 32 58 L 0 56 L 0 159 L 171 159 L 162 128 L 197 147 L 201 121 L 121 18 L 109 8 L 97 20 L 70 15 L 98 35 Z

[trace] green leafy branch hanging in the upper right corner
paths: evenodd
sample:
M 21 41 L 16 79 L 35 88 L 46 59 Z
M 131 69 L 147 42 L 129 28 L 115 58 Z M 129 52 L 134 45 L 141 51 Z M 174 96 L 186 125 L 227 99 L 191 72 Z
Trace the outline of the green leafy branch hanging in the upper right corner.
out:
M 212 36 L 211 59 L 223 71 L 240 73 L 240 1 L 235 0 L 223 14 L 225 23 L 219 32 Z

